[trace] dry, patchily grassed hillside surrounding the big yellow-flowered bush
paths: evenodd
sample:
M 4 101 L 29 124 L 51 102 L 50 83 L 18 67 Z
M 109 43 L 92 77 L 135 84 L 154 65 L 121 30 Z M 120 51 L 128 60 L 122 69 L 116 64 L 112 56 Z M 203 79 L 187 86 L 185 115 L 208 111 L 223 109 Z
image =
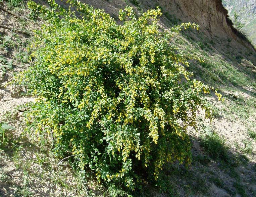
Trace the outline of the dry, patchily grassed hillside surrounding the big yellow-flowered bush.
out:
M 16 128 L 0 130 L 0 196 L 128 196 L 111 190 L 96 180 L 87 170 L 71 169 L 71 158 L 56 158 L 53 151 L 55 136 L 26 129 L 24 121 L 35 98 L 26 87 L 11 83 L 14 76 L 34 65 L 29 61 L 33 45 L 33 30 L 46 23 L 27 2 L 1 2 L 0 24 L 0 124 Z M 46 1 L 37 1 L 50 8 Z M 69 4 L 56 1 L 68 9 Z M 162 16 L 159 31 L 182 22 L 195 22 L 199 30 L 187 29 L 173 33 L 170 42 L 188 55 L 193 78 L 218 89 L 224 100 L 214 92 L 201 94 L 212 109 L 212 120 L 197 111 L 198 131 L 188 130 L 192 144 L 192 163 L 188 168 L 167 163 L 162 174 L 161 188 L 143 180 L 136 196 L 256 196 L 256 51 L 251 43 L 234 29 L 227 10 L 220 0 L 84 0 L 94 8 L 104 9 L 117 24 L 119 9 L 132 6 L 137 16 L 159 6 Z M 249 6 L 244 12 L 247 28 L 254 31 L 254 1 L 223 1 L 229 13 Z M 237 1 L 236 1 L 237 2 Z M 239 1 L 240 3 L 240 1 Z M 238 8 L 238 5 L 243 5 Z M 10 12 L 7 12 L 9 10 Z M 233 11 L 232 11 L 233 10 Z M 245 9 L 246 10 L 246 9 Z M 249 16 L 252 18 L 249 18 Z M 245 18 L 246 18 L 245 17 Z M 254 22 L 253 22 L 254 21 Z M 19 30 L 19 31 L 17 31 Z M 27 105 L 24 105 L 27 103 Z M 33 122 L 33 121 L 32 121 Z M 0 125 L 1 126 L 1 125 Z M 1 128 L 1 127 L 0 127 Z M 72 157 L 72 156 L 71 156 Z M 67 162 L 69 161 L 69 162 Z M 138 169 L 136 169 L 138 170 Z

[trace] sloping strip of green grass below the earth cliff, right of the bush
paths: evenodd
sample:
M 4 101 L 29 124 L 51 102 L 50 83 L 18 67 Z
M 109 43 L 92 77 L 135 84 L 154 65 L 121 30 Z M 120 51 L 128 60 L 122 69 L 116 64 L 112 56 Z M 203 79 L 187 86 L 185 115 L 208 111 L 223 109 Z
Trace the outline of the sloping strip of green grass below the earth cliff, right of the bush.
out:
M 236 87 L 240 91 L 245 91 L 244 87 L 256 88 L 256 74 L 249 68 L 241 67 L 239 64 L 243 56 L 238 53 L 228 55 L 223 58 L 221 53 L 211 51 L 211 43 L 205 43 L 192 39 L 189 36 L 175 36 L 174 42 L 180 45 L 190 54 L 197 54 L 204 62 L 191 62 L 190 70 L 194 72 L 196 78 L 200 77 L 206 84 L 217 87 L 220 90 Z M 200 36 L 200 35 L 199 35 Z M 209 41 L 210 42 L 210 41 Z M 207 50 L 208 51 L 207 51 Z

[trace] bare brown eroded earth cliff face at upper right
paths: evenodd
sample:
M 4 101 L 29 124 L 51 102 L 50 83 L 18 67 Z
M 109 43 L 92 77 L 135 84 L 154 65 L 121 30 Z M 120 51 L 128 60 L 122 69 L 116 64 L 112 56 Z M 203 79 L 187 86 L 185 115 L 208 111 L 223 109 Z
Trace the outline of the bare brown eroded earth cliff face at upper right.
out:
M 220 48 L 228 43 L 228 39 L 232 38 L 229 44 L 239 52 L 248 50 L 255 51 L 252 44 L 245 40 L 233 27 L 233 23 L 228 18 L 227 10 L 223 7 L 221 0 L 168 0 L 154 1 L 154 4 L 151 5 L 148 1 L 141 1 L 141 5 L 147 9 L 154 7 L 155 5 L 160 5 L 163 13 L 169 13 L 180 19 L 182 22 L 196 22 L 200 25 L 200 33 L 203 32 L 204 37 L 208 37 L 212 40 L 221 40 Z M 164 15 L 166 16 L 166 14 Z M 248 54 L 244 54 L 244 56 L 248 57 Z M 252 55 L 249 58 L 254 62 L 256 61 L 255 55 Z

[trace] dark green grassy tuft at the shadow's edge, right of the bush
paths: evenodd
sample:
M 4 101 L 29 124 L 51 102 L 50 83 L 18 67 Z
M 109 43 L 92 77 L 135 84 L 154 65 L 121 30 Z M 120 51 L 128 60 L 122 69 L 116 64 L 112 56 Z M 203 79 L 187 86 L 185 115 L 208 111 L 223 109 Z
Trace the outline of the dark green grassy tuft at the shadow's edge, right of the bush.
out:
M 202 137 L 201 145 L 205 148 L 206 153 L 208 153 L 212 159 L 228 160 L 225 139 L 220 137 L 218 134 L 214 132 L 206 134 Z

